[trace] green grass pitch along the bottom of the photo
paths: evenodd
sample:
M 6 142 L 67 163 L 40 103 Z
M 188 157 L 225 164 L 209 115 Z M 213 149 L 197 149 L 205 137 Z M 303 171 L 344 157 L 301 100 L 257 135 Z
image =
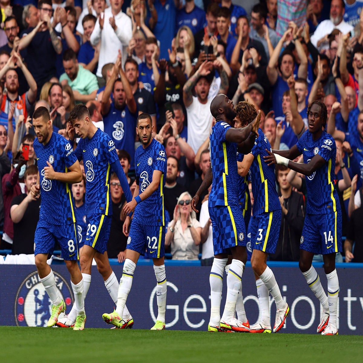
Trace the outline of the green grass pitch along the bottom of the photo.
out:
M 363 337 L 1 326 L 0 362 L 319 362 L 362 359 Z

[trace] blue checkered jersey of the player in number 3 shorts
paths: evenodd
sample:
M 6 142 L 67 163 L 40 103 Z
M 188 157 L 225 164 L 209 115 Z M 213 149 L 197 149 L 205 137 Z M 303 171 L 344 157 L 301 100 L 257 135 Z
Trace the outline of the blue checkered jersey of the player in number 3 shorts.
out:
M 271 150 L 271 145 L 262 130 L 258 129 L 258 138 L 251 150 L 254 159 L 249 170 L 254 197 L 253 215 L 281 209 L 276 191 L 275 166 L 264 162 L 264 156 L 268 155 L 265 149 Z

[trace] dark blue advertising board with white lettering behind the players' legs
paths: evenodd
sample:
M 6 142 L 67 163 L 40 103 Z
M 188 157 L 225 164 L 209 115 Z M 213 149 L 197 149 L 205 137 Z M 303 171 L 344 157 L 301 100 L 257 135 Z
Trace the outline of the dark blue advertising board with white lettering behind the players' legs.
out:
M 177 264 L 176 262 L 179 262 Z M 198 262 L 198 261 L 195 261 Z M 150 329 L 157 316 L 156 280 L 150 261 L 142 260 L 136 267 L 127 307 L 134 318 L 136 329 Z M 269 262 L 284 299 L 289 303 L 290 315 L 282 333 L 316 334 L 321 307 L 306 284 L 294 262 Z M 321 266 L 321 265 L 320 265 Z M 363 264 L 337 266 L 340 291 L 338 305 L 339 334 L 363 335 Z M 113 265 L 118 278 L 122 265 Z M 355 268 L 350 268 L 355 267 Z M 73 294 L 65 265 L 52 265 L 58 289 L 69 312 Z M 180 265 L 180 261 L 166 262 L 167 307 L 166 328 L 174 330 L 207 330 L 210 312 L 209 267 Z M 326 277 L 317 267 L 326 291 Z M 45 326 L 50 317 L 51 302 L 39 281 L 35 266 L 1 265 L 0 291 L 1 325 Z M 245 310 L 251 325 L 258 321 L 256 285 L 250 265 L 242 277 Z M 227 286 L 224 278 L 221 310 L 223 311 Z M 110 313 L 114 302 L 106 291 L 101 275 L 92 268 L 92 281 L 85 301 L 88 328 L 107 328 L 102 313 Z M 274 323 L 276 307 L 270 297 L 271 322 Z

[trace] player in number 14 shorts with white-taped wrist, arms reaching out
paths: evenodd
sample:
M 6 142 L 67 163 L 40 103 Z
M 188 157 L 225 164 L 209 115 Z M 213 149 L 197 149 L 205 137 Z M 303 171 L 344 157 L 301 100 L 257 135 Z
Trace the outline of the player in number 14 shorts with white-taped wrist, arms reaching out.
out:
M 324 103 L 315 101 L 307 109 L 308 130 L 290 150 L 268 151 L 269 165 L 283 164 L 306 175 L 306 216 L 300 240 L 299 268 L 306 282 L 323 306 L 318 333 L 336 335 L 339 280 L 335 270 L 335 254 L 342 252 L 342 212 L 338 192 L 334 188 L 335 155 L 333 136 L 323 129 L 327 120 Z M 304 163 L 291 160 L 303 155 Z M 256 203 L 256 200 L 255 200 Z M 322 254 L 328 280 L 328 296 L 312 266 L 314 253 Z

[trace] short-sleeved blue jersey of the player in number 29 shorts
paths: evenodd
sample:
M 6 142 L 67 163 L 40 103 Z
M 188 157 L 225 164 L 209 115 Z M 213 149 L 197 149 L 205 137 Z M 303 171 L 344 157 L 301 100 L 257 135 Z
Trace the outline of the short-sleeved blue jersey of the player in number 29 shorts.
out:
M 81 139 L 75 150 L 78 160 L 83 159 L 86 173 L 87 215 L 112 215 L 110 192 L 111 164 L 118 161 L 113 140 L 97 129 L 91 139 Z

